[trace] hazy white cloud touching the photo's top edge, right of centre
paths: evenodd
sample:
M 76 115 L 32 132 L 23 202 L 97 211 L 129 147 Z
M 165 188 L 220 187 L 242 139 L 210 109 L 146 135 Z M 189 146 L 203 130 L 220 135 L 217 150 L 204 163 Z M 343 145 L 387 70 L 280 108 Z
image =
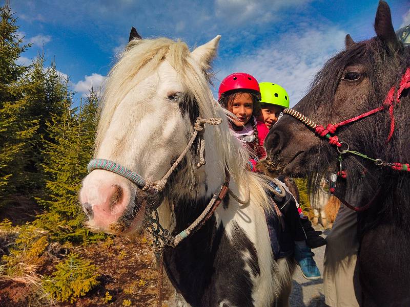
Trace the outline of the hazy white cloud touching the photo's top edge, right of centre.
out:
M 232 24 L 253 24 L 280 19 L 284 8 L 308 2 L 310 0 L 216 0 L 215 13 Z

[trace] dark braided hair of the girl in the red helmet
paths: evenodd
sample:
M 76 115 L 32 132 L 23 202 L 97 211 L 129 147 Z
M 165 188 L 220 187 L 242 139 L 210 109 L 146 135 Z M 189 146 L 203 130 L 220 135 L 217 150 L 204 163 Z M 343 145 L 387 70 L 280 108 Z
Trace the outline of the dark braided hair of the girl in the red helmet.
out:
M 259 101 L 260 101 L 260 93 L 256 91 L 247 91 L 244 89 L 238 89 L 238 90 L 233 90 L 229 91 L 226 93 L 221 94 L 221 97 L 219 99 L 220 105 L 224 108 L 227 109 L 229 112 L 232 112 L 232 102 L 235 100 L 237 95 L 241 94 L 250 94 L 253 102 L 253 111 L 252 111 L 252 116 L 257 116 L 260 112 L 260 106 L 259 106 Z M 251 120 L 253 120 L 251 118 Z M 256 128 L 256 124 L 253 123 L 253 135 L 255 136 L 255 140 L 253 141 L 253 150 L 256 154 L 258 155 L 259 151 L 259 137 L 258 137 L 258 129 Z

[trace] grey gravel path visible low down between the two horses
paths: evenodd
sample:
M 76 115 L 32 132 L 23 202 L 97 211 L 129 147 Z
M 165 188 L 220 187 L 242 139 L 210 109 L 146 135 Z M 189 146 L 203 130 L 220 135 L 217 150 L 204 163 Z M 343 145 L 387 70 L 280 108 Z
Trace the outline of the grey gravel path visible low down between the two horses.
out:
M 323 229 L 322 226 L 314 226 L 316 230 L 323 231 L 323 237 L 329 230 Z M 316 248 L 313 250 L 315 253 L 314 259 L 323 276 L 323 256 L 325 247 Z M 324 292 L 323 292 L 323 279 L 308 280 L 303 278 L 300 268 L 296 267 L 293 274 L 293 289 L 290 298 L 292 307 L 325 307 Z

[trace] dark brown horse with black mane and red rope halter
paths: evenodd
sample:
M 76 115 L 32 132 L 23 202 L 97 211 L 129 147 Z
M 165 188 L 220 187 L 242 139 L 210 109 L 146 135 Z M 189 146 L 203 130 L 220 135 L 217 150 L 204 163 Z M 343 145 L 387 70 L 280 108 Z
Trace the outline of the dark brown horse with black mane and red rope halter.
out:
M 297 111 L 320 124 L 335 123 L 383 105 L 392 87 L 397 92 L 410 67 L 410 50 L 397 40 L 390 9 L 383 1 L 376 13 L 375 30 L 376 37 L 361 42 L 346 36 L 346 49 L 327 61 L 311 91 L 295 106 Z M 408 92 L 401 93 L 400 102 L 395 100 L 393 113 L 386 106 L 341 126 L 337 129 L 339 142 L 368 157 L 408 163 Z M 392 119 L 395 125 L 390 139 Z M 346 149 L 346 143 L 341 150 Z M 329 169 L 339 166 L 337 147 L 289 115 L 270 131 L 265 147 L 271 171 L 307 175 L 311 188 Z M 363 305 L 410 306 L 410 173 L 396 171 L 389 164 L 377 166 L 352 152 L 342 156 L 347 177 L 337 181 L 336 195 L 355 206 L 373 199 L 369 209 L 361 213 L 360 223 Z

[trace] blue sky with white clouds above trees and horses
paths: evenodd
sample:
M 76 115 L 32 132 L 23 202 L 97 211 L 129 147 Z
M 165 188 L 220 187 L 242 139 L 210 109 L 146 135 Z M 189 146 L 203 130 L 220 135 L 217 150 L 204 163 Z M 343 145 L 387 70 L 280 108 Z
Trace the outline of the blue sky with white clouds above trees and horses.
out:
M 388 1 L 393 25 L 410 24 L 410 2 Z M 303 97 L 327 58 L 374 36 L 375 0 L 10 0 L 19 33 L 33 46 L 20 62 L 44 49 L 47 64 L 70 76 L 77 98 L 99 86 L 128 41 L 132 26 L 143 37 L 180 38 L 190 47 L 222 35 L 214 62 L 215 85 L 234 71 L 281 84 L 291 105 Z

